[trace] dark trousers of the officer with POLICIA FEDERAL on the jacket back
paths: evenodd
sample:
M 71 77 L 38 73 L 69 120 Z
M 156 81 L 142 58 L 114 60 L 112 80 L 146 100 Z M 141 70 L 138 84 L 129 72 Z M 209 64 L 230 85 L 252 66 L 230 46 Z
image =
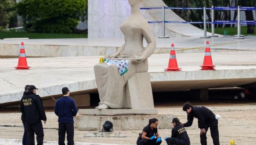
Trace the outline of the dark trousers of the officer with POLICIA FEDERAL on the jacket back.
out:
M 35 145 L 35 136 L 34 133 L 36 133 L 36 142 L 37 145 L 43 144 L 43 128 L 42 128 L 42 122 L 36 122 L 33 124 L 26 124 L 26 130 L 27 130 L 27 138 L 28 138 L 28 145 Z

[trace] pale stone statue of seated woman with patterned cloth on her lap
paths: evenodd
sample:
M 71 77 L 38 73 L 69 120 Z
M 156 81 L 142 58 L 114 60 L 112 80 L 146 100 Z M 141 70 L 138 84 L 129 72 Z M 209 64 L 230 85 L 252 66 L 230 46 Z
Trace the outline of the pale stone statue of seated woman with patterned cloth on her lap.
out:
M 155 51 L 155 36 L 149 23 L 140 14 L 142 0 L 128 0 L 131 16 L 121 25 L 125 44 L 112 55 L 107 55 L 107 63 L 94 66 L 95 80 L 100 96 L 96 109 L 124 108 L 125 83 L 139 72 L 148 72 L 149 56 Z M 143 38 L 147 41 L 143 47 Z

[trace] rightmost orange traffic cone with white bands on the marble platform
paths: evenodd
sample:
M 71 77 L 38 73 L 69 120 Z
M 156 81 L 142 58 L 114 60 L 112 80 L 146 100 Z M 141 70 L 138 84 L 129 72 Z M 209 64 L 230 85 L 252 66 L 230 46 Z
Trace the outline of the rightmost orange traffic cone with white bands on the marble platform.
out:
M 214 70 L 209 41 L 206 41 L 203 64 L 201 70 Z

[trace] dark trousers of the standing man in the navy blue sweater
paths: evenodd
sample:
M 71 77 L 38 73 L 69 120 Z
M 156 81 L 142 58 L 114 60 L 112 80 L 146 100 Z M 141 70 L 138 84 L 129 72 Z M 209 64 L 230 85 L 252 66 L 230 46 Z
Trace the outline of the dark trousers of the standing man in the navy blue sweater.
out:
M 65 145 L 65 133 L 67 132 L 67 145 L 74 145 L 74 124 L 59 123 L 59 145 Z

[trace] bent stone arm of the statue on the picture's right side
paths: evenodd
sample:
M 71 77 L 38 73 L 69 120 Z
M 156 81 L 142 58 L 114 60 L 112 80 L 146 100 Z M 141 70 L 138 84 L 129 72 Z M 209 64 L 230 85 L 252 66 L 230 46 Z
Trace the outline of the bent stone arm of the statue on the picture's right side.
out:
M 145 48 L 145 50 L 141 55 L 142 60 L 144 60 L 149 58 L 149 56 L 153 54 L 153 52 L 155 51 L 156 42 L 155 42 L 155 36 L 152 33 L 149 25 L 148 27 L 144 27 L 142 29 L 142 35 L 148 43 L 147 47 Z

